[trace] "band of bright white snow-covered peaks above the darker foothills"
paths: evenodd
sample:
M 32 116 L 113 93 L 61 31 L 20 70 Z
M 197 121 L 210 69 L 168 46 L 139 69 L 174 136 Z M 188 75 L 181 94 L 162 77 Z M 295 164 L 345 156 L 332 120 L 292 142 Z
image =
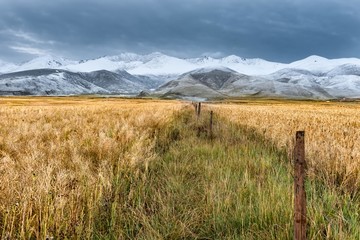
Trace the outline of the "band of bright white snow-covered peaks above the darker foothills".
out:
M 327 59 L 312 55 L 289 64 L 270 62 L 260 58 L 242 58 L 229 55 L 223 58 L 202 56 L 199 58 L 177 58 L 161 52 L 146 55 L 124 52 L 114 56 L 104 56 L 85 61 L 70 61 L 61 57 L 46 55 L 35 58 L 20 66 L 0 62 L 0 72 L 8 73 L 31 69 L 52 68 L 73 72 L 92 72 L 98 70 L 124 70 L 136 75 L 180 75 L 199 68 L 230 68 L 246 75 L 267 75 L 281 69 L 303 69 L 314 74 L 324 75 L 332 69 L 344 65 L 359 66 L 360 59 Z M 350 68 L 350 67 L 347 67 Z M 335 69 L 333 72 L 340 71 Z M 341 71 L 345 71 L 344 69 Z M 350 70 L 346 70 L 349 72 Z

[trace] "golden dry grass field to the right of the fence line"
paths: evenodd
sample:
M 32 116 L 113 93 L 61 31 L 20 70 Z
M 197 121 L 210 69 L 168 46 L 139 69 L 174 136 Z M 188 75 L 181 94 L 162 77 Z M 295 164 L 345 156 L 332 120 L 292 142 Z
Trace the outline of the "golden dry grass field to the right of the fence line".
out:
M 360 189 L 360 105 L 356 103 L 243 101 L 211 105 L 231 121 L 255 128 L 292 152 L 305 130 L 309 177 L 355 193 Z

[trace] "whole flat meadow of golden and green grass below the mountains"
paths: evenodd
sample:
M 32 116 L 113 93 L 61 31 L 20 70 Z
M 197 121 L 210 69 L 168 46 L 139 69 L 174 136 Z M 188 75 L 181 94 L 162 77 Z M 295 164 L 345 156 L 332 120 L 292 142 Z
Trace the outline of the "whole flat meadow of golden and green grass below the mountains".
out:
M 305 130 L 309 239 L 360 237 L 360 105 L 0 98 L 1 239 L 292 239 Z M 209 111 L 214 125 L 209 130 Z

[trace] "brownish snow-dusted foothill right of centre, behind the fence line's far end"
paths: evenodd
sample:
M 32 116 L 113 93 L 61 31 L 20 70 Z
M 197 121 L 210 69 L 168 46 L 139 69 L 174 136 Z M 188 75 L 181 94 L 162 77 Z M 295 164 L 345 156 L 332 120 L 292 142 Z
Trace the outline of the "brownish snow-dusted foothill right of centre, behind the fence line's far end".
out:
M 183 74 L 155 91 L 164 97 L 286 97 L 286 98 L 332 98 L 318 84 L 308 85 L 284 81 L 284 78 L 271 79 L 248 76 L 230 69 L 199 69 Z

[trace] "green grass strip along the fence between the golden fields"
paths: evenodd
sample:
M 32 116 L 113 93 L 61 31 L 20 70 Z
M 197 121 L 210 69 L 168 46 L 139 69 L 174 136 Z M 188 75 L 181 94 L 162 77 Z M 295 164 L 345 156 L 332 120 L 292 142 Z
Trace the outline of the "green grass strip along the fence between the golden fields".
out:
M 118 168 L 95 239 L 292 239 L 288 154 L 253 129 L 186 110 L 157 129 L 158 157 Z M 360 239 L 359 196 L 307 182 L 308 238 Z

